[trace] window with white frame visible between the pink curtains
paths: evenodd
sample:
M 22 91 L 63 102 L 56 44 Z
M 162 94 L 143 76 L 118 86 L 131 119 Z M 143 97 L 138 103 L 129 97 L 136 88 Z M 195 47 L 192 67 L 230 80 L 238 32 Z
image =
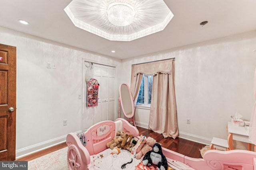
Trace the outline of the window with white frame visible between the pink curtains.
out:
M 145 76 L 143 74 L 137 104 L 146 105 L 151 103 L 152 83 L 153 76 Z

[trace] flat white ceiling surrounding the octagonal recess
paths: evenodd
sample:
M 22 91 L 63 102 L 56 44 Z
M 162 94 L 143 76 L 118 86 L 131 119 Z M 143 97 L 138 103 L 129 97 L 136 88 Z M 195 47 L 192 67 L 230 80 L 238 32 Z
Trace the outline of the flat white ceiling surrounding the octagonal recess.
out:
M 174 17 L 163 31 L 128 42 L 110 41 L 75 27 L 64 12 L 70 2 L 0 0 L 0 26 L 118 59 L 256 30 L 256 0 L 164 0 Z M 202 27 L 202 21 L 208 24 Z

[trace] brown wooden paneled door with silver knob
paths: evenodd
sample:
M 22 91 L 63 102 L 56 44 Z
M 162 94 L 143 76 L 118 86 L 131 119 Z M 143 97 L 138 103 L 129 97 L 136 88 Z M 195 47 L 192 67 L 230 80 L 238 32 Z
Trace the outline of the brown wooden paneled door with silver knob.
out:
M 16 47 L 0 44 L 0 160 L 15 157 Z

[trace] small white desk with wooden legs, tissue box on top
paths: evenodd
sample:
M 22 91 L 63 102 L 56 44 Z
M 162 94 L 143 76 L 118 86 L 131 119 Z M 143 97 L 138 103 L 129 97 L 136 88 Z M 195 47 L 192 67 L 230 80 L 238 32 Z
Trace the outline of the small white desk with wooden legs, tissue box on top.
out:
M 248 150 L 252 150 L 252 143 L 249 141 L 249 132 L 246 131 L 244 126 L 233 125 L 232 122 L 228 122 L 228 144 L 233 149 L 233 140 L 242 141 L 248 143 Z M 254 151 L 256 146 L 254 145 Z

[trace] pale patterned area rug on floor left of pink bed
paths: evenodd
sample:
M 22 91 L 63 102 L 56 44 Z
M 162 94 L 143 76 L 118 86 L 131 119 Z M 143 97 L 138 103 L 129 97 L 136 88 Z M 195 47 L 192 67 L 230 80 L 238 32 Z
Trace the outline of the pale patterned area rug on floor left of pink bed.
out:
M 28 170 L 68 170 L 68 147 L 28 161 Z

